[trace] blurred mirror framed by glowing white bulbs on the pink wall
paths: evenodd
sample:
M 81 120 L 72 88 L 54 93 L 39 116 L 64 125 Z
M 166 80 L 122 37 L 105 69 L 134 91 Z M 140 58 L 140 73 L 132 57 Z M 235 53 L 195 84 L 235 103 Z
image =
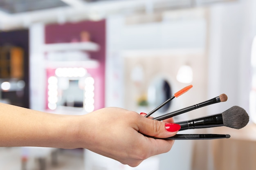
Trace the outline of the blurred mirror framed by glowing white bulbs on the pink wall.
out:
M 48 108 L 94 110 L 94 79 L 85 68 L 57 68 L 48 78 Z

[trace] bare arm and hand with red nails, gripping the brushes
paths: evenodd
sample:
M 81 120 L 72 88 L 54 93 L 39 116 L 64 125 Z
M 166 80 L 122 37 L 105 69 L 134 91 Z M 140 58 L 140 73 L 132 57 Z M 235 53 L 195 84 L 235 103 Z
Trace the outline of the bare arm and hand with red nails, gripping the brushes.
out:
M 129 166 L 171 150 L 180 126 L 123 108 L 102 108 L 85 115 L 61 115 L 0 103 L 0 146 L 86 148 Z

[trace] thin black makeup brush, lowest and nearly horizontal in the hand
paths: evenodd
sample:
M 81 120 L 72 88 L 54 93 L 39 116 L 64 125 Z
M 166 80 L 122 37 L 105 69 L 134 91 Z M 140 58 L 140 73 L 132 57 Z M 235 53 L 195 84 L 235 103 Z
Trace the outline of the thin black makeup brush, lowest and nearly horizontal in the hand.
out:
M 167 138 L 157 138 L 154 139 L 164 139 L 164 140 L 204 140 L 204 139 L 223 139 L 230 138 L 230 135 L 221 134 L 176 134 L 172 137 Z

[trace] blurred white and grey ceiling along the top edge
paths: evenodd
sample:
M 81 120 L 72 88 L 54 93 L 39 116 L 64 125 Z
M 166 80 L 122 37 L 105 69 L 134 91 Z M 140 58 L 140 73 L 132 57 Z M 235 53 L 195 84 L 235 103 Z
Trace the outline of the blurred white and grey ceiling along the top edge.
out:
M 31 23 L 101 20 L 108 15 L 132 15 L 181 9 L 234 0 L 1 0 L 0 30 Z

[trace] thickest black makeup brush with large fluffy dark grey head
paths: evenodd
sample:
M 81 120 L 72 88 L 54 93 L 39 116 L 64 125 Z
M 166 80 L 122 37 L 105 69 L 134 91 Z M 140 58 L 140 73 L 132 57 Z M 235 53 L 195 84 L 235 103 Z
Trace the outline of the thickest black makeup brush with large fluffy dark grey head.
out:
M 249 122 L 249 115 L 245 109 L 239 106 L 233 106 L 222 113 L 189 121 L 180 121 L 175 124 L 181 126 L 180 130 L 211 128 L 217 126 L 227 126 L 229 128 L 240 129 L 245 127 Z

